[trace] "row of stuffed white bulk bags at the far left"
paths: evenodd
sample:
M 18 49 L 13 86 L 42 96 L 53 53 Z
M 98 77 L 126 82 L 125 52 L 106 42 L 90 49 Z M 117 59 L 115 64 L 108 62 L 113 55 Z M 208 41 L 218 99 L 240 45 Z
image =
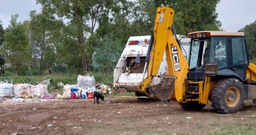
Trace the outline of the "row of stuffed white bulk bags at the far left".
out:
M 48 85 L 50 83 L 48 79 L 37 84 L 30 83 L 16 83 L 12 84 L 6 82 L 0 82 L 0 100 L 5 100 L 4 97 L 15 98 L 33 98 L 35 96 L 42 97 L 48 94 Z

